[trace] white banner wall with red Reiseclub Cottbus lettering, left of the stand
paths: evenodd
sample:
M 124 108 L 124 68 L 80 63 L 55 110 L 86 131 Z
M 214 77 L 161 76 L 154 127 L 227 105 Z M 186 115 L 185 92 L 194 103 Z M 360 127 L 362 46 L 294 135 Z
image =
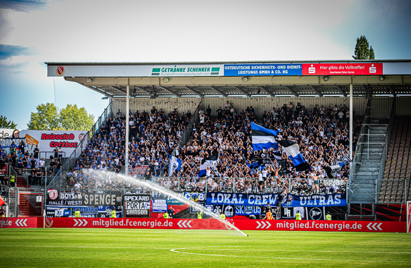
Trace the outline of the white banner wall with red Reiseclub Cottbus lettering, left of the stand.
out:
M 26 139 L 25 151 L 34 153 L 35 146 L 39 147 L 39 158 L 54 157 L 54 148 L 63 149 L 63 157 L 69 157 L 79 145 L 79 142 L 86 137 L 87 131 L 40 131 L 23 129 L 0 129 L 0 134 L 7 139 Z M 1 135 L 0 135 L 1 136 Z M 8 140 L 3 142 L 10 143 Z M 18 141 L 20 143 L 20 141 Z M 3 146 L 3 145 L 2 145 Z M 47 154 L 45 152 L 48 152 Z

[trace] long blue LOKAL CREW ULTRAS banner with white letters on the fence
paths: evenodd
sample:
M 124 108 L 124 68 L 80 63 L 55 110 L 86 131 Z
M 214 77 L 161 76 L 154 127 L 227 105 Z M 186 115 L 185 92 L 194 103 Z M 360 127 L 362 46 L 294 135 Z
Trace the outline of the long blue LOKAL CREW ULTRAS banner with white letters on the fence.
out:
M 207 204 L 266 206 L 276 205 L 278 194 L 243 194 L 243 193 L 207 193 Z M 282 205 L 287 207 L 333 207 L 347 205 L 345 194 L 297 196 L 287 195 L 282 198 Z

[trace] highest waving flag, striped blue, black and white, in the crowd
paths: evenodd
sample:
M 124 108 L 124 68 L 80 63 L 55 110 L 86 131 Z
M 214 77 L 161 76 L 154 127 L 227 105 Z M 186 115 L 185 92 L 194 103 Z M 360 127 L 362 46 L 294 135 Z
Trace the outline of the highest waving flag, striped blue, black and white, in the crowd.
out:
M 253 151 L 260 151 L 263 149 L 274 148 L 278 150 L 278 143 L 275 140 L 278 131 L 270 130 L 258 126 L 256 123 L 251 122 L 251 136 L 253 142 Z

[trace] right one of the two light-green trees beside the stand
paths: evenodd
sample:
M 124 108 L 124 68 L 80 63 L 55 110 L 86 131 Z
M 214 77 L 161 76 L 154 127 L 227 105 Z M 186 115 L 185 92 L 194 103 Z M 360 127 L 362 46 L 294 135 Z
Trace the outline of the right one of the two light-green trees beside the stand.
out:
M 94 116 L 87 114 L 84 107 L 78 109 L 77 105 L 67 105 L 60 111 L 61 128 L 65 130 L 89 130 L 94 124 Z

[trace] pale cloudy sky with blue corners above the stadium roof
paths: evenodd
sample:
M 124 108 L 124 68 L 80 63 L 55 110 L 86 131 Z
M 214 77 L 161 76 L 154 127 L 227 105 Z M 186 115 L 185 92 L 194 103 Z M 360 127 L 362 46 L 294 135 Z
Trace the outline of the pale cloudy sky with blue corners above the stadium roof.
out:
M 102 95 L 47 77 L 48 61 L 351 60 L 365 35 L 377 59 L 411 59 L 411 1 L 0 0 L 0 114 L 25 129 L 46 102 Z

